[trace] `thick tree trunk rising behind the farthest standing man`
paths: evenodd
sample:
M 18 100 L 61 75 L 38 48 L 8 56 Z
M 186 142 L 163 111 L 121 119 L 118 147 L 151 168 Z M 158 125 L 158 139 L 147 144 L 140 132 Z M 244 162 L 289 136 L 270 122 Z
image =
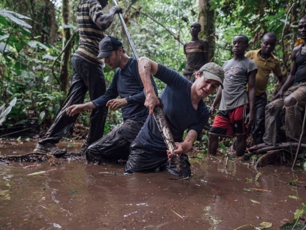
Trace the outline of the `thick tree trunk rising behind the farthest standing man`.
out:
M 215 11 L 210 10 L 210 0 L 199 0 L 199 23 L 202 30 L 199 37 L 206 38 L 209 42 L 209 62 L 214 61 L 215 56 Z

